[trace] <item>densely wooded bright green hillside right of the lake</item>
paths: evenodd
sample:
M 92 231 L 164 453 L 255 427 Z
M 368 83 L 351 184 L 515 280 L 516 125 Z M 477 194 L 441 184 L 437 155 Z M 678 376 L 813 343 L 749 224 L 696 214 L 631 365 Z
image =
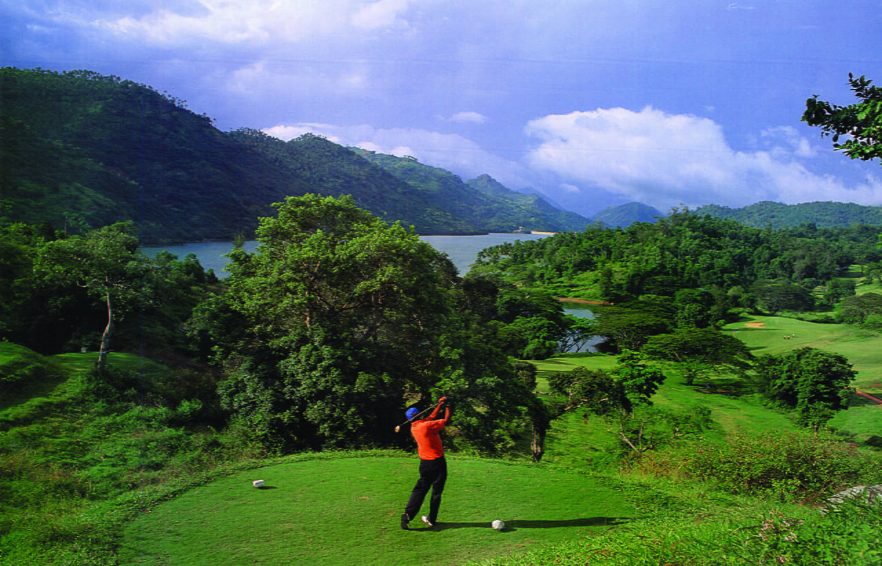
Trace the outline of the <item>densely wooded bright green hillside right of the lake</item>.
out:
M 721 312 L 799 310 L 804 295 L 790 292 L 794 286 L 811 290 L 858 259 L 882 259 L 877 234 L 858 227 L 759 230 L 681 210 L 654 224 L 497 245 L 479 254 L 477 271 L 612 303 L 703 290 Z

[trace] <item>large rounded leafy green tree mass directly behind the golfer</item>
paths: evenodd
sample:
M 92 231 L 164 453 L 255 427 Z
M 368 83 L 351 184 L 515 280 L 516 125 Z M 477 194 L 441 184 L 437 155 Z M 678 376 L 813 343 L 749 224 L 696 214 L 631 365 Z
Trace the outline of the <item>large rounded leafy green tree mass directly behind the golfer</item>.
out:
M 206 308 L 230 377 L 225 405 L 279 449 L 407 441 L 410 404 L 455 399 L 456 441 L 492 450 L 527 419 L 508 358 L 472 332 L 452 263 L 349 197 L 289 197 L 255 253 L 231 253 Z M 526 426 L 526 422 L 520 423 Z

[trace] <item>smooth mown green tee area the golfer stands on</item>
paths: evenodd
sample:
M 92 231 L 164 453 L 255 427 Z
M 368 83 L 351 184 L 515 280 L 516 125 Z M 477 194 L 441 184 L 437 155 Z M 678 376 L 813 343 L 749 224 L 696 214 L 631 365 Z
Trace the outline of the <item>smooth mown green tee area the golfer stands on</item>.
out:
M 410 531 L 400 515 L 416 457 L 292 458 L 191 489 L 129 524 L 123 564 L 460 564 L 578 540 L 639 517 L 593 476 L 449 457 L 438 517 Z M 264 479 L 266 486 L 251 486 Z M 428 498 L 422 512 L 428 511 Z M 505 521 L 494 531 L 490 522 Z

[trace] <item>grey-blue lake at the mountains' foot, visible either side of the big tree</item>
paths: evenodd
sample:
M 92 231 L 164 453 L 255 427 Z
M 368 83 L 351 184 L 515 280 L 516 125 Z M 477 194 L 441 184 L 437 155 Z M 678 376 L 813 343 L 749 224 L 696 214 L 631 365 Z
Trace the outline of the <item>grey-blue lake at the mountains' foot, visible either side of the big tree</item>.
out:
M 453 265 L 460 270 L 460 275 L 468 272 L 468 267 L 475 263 L 475 258 L 485 247 L 504 244 L 515 240 L 535 240 L 547 238 L 546 234 L 484 234 L 482 236 L 421 236 L 420 239 L 428 242 L 438 252 L 446 253 Z M 258 247 L 257 242 L 246 242 L 245 251 L 253 252 Z M 214 275 L 225 277 L 228 274 L 223 270 L 228 260 L 222 257 L 233 249 L 232 242 L 200 242 L 198 244 L 166 245 L 161 247 L 143 247 L 141 252 L 153 257 L 161 250 L 174 253 L 179 260 L 183 260 L 188 253 L 193 253 L 202 264 L 203 268 L 213 269 Z

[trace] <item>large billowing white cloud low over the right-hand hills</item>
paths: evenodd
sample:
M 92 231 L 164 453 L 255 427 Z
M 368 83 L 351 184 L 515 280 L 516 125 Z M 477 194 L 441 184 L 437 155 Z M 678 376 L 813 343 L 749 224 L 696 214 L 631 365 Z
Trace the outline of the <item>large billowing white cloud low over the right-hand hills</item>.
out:
M 730 147 L 712 120 L 651 107 L 551 115 L 530 121 L 526 132 L 540 140 L 527 155 L 535 169 L 660 209 L 759 200 L 882 203 L 874 179 L 848 188 L 811 172 L 804 161 L 815 150 L 789 127 L 763 132 L 763 149 L 752 152 Z

